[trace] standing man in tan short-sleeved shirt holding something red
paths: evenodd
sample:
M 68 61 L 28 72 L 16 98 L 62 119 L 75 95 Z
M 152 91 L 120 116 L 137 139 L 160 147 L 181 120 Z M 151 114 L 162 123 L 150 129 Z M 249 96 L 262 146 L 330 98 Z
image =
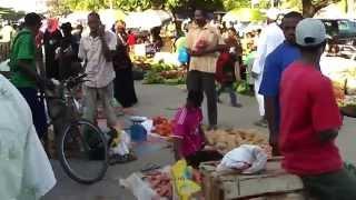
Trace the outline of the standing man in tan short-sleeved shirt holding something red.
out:
M 195 11 L 195 22 L 187 33 L 187 47 L 190 56 L 187 76 L 188 90 L 204 91 L 208 103 L 209 129 L 217 128 L 217 94 L 215 86 L 216 61 L 218 52 L 227 49 L 219 31 L 207 23 L 204 10 Z

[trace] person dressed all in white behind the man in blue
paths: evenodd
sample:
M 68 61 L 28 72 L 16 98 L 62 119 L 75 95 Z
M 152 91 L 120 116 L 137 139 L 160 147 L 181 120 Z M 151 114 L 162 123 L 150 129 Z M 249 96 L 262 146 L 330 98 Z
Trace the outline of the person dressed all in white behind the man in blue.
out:
M 278 18 L 278 10 L 270 9 L 267 11 L 267 27 L 263 29 L 260 37 L 258 39 L 257 53 L 256 53 L 256 58 L 255 58 L 253 71 L 251 71 L 251 76 L 255 79 L 255 96 L 258 102 L 259 114 L 261 117 L 261 119 L 257 121 L 255 124 L 261 126 L 261 127 L 267 127 L 267 121 L 265 119 L 264 96 L 258 93 L 258 90 L 263 80 L 265 60 L 267 56 L 271 51 L 274 51 L 285 40 L 283 30 L 279 28 L 279 26 L 276 22 L 277 18 Z

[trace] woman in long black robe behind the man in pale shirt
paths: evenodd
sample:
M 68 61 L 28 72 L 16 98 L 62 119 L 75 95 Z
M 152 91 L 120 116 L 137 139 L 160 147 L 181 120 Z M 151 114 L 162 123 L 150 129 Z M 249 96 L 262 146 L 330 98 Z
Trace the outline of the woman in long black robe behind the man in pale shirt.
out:
M 118 46 L 113 56 L 113 68 L 116 71 L 115 79 L 115 98 L 122 106 L 123 111 L 137 103 L 135 92 L 132 62 L 128 54 L 126 24 L 119 21 L 116 24 Z

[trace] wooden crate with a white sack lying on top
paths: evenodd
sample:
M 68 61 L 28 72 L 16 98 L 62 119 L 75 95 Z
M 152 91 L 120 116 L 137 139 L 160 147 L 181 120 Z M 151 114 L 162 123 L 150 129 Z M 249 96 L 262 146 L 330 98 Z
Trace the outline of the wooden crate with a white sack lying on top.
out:
M 300 194 L 301 180 L 284 171 L 278 160 L 268 161 L 267 169 L 263 173 L 250 176 L 233 171 L 216 172 L 216 166 L 217 162 L 205 162 L 200 166 L 206 200 L 267 198 L 267 196 L 269 196 L 268 199 L 304 199 Z

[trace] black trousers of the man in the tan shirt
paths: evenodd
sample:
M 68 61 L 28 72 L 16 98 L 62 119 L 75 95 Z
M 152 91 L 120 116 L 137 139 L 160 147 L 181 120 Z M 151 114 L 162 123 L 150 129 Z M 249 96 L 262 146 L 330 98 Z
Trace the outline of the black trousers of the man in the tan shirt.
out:
M 187 76 L 187 89 L 205 92 L 207 97 L 209 124 L 216 126 L 218 121 L 218 108 L 215 74 L 196 70 L 189 71 Z

